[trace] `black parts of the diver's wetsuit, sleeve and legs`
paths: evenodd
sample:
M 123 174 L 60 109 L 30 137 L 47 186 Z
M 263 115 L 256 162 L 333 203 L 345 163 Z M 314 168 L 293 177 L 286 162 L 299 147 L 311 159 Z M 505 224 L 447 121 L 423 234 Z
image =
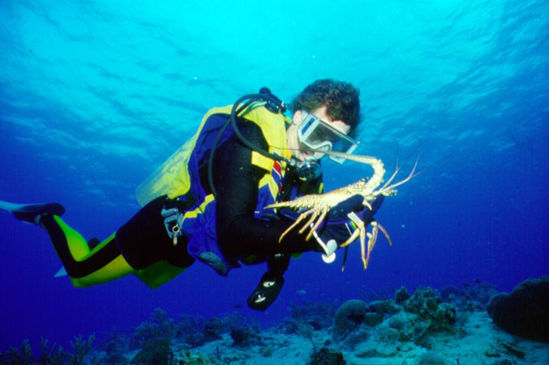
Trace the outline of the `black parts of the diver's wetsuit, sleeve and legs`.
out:
M 241 132 L 257 146 L 268 149 L 267 142 L 259 126 L 252 122 L 239 123 Z M 293 230 L 279 243 L 279 237 L 291 221 L 261 220 L 254 217 L 257 204 L 259 180 L 266 171 L 251 164 L 252 151 L 233 136 L 221 144 L 213 161 L 213 184 L 217 190 L 217 230 L 220 250 L 229 258 L 248 255 L 266 256 L 270 267 L 281 265 L 277 270 L 283 272 L 288 266 L 288 259 L 282 264 L 269 260 L 274 254 L 305 252 L 314 248 L 312 241 L 305 241 L 303 235 Z M 209 192 L 207 164 L 199 170 L 202 186 Z M 288 170 L 281 188 L 282 199 L 287 199 L 292 187 L 296 186 L 305 192 L 317 192 L 320 178 L 303 183 Z M 60 256 L 69 276 L 82 278 L 97 269 L 104 267 L 122 254 L 134 269 L 143 269 L 165 260 L 176 267 L 188 267 L 194 262 L 187 252 L 186 237 L 181 237 L 174 246 L 167 236 L 163 207 L 178 207 L 185 210 L 185 204 L 166 196 L 148 203 L 135 214 L 130 221 L 117 230 L 115 236 L 104 241 L 97 252 L 85 260 L 76 261 L 67 245 L 67 236 L 60 225 L 51 216 L 45 216 L 42 224 L 51 236 L 54 247 Z M 288 256 L 288 255 L 286 255 Z M 288 256 L 289 257 L 289 256 Z

